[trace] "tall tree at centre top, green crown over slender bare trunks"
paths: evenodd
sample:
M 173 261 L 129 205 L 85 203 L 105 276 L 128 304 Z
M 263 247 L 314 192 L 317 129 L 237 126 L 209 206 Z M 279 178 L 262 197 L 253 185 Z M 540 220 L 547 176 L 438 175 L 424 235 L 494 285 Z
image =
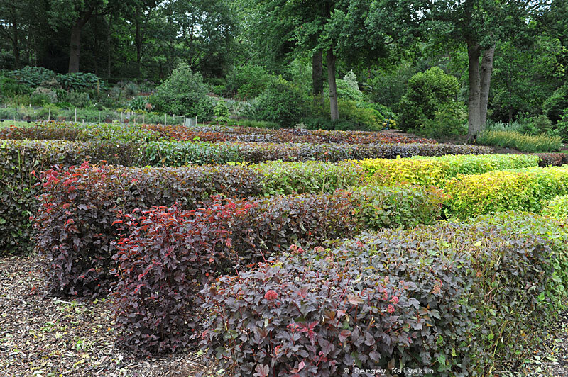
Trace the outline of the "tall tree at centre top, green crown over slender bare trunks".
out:
M 314 93 L 320 91 L 317 81 L 320 69 L 320 54 L 326 55 L 329 86 L 329 113 L 332 120 L 339 118 L 337 106 L 338 57 L 353 61 L 361 57 L 374 58 L 381 54 L 383 43 L 371 40 L 365 20 L 369 1 L 324 0 L 254 1 L 259 16 L 258 30 L 263 38 L 277 40 L 280 48 L 289 47 L 290 52 L 311 55 Z M 270 43 L 267 43 L 270 45 Z

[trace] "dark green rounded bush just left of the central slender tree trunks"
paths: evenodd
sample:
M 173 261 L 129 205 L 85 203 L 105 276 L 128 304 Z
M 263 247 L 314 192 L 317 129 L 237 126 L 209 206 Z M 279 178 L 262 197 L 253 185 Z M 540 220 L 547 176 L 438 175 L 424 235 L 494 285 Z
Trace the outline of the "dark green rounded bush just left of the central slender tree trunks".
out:
M 278 79 L 258 96 L 261 120 L 290 127 L 307 115 L 310 99 L 293 83 Z

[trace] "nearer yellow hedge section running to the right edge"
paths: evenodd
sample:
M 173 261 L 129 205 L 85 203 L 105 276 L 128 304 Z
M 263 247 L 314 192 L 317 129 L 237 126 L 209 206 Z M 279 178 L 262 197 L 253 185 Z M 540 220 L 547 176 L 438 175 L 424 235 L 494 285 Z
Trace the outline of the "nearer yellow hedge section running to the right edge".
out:
M 447 181 L 447 212 L 469 218 L 504 210 L 540 213 L 543 203 L 568 194 L 568 166 L 490 171 Z

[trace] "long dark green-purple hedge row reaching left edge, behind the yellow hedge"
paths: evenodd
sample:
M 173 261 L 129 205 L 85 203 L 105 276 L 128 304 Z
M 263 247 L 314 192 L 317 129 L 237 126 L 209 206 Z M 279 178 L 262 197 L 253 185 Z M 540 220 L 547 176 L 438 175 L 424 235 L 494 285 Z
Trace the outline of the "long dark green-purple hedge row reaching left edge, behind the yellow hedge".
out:
M 62 129 L 65 130 L 65 129 Z M 266 149 L 264 149 L 266 148 Z M 273 148 L 273 149 L 271 149 Z M 367 148 L 367 149 L 365 149 Z M 431 149 L 433 148 L 433 149 Z M 457 148 L 457 149 L 456 149 Z M 99 140 L 70 142 L 62 140 L 0 140 L 0 198 L 6 203 L 0 209 L 0 240 L 4 252 L 26 252 L 33 248 L 30 241 L 31 223 L 28 217 L 35 213 L 38 193 L 38 174 L 53 166 L 69 167 L 85 160 L 94 163 L 132 166 L 180 166 L 185 164 L 224 164 L 247 160 L 264 161 L 284 159 L 323 159 L 337 161 L 345 158 L 359 159 L 371 156 L 396 157 L 415 153 L 443 154 L 449 152 L 481 153 L 477 147 L 452 145 L 263 145 L 205 142 L 128 142 L 123 140 Z M 455 150 L 454 150 L 455 149 Z M 270 152 L 272 151 L 272 152 Z M 278 163 L 276 163 L 278 164 Z M 308 163 L 311 164 L 311 163 Z M 300 165 L 282 166 L 300 169 Z M 310 165 L 314 166 L 314 165 Z M 351 164 L 354 172 L 359 169 Z M 268 168 L 267 168 L 268 169 Z M 307 168 L 310 170 L 311 168 Z M 330 167 L 329 169 L 334 169 Z M 341 168 L 343 169 L 343 168 Z M 280 171 L 283 171 L 280 169 Z M 32 174 L 35 172 L 35 174 Z M 315 171 L 312 169 L 312 173 Z M 292 174 L 290 172 L 290 174 Z M 324 179 L 333 179 L 324 174 Z M 349 175 L 346 173 L 346 175 Z M 275 177 L 276 180 L 282 176 Z M 307 186 L 313 186 L 308 182 Z M 290 193 L 286 183 L 280 181 L 279 193 Z M 333 190 L 334 188 L 330 188 Z M 311 188 L 310 188 L 311 190 Z M 328 192 L 329 190 L 324 189 Z

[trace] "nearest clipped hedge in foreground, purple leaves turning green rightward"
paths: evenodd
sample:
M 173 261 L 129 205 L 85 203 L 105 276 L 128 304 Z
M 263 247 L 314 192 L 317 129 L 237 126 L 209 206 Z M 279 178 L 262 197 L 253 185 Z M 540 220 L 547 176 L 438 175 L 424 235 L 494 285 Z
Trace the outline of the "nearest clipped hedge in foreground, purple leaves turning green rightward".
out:
M 506 213 L 284 256 L 201 291 L 202 349 L 231 376 L 491 376 L 550 336 L 567 241 L 561 223 Z

